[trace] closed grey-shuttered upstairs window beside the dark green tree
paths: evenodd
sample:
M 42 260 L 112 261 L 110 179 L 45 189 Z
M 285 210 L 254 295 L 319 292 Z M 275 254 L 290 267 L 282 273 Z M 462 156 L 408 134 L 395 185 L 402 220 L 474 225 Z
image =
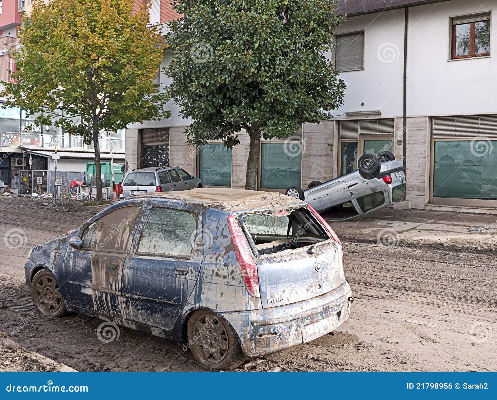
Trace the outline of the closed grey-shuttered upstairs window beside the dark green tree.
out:
M 364 32 L 336 35 L 335 68 L 338 72 L 364 68 Z

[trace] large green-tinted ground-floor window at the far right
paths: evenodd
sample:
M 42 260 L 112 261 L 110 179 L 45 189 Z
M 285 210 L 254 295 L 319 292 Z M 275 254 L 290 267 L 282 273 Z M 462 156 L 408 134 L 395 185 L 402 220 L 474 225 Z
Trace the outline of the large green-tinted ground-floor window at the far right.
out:
M 497 200 L 497 140 L 434 143 L 433 197 Z

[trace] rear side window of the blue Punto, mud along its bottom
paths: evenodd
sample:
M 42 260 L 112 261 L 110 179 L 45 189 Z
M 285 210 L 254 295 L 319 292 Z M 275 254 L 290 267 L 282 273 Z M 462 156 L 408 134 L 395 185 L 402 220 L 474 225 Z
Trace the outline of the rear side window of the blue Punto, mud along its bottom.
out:
M 138 253 L 190 258 L 195 231 L 195 214 L 153 207 L 143 228 Z

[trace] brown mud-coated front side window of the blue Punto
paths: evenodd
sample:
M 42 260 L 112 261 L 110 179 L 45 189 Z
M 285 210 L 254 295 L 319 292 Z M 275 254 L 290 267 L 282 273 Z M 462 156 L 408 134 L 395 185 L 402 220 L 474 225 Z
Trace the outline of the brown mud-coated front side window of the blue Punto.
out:
M 140 207 L 128 206 L 110 211 L 83 232 L 83 249 L 124 253 Z

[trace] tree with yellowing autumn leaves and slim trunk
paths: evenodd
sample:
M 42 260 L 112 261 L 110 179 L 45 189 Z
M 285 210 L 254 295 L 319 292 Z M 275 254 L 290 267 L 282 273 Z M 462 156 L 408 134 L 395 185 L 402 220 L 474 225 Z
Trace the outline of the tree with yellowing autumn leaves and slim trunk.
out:
M 4 82 L 0 93 L 6 106 L 37 114 L 35 125 L 93 143 L 98 199 L 99 131 L 170 114 L 153 83 L 165 45 L 159 28 L 147 27 L 149 8 L 150 1 L 133 13 L 133 0 L 35 0 L 19 30 L 15 82 Z

